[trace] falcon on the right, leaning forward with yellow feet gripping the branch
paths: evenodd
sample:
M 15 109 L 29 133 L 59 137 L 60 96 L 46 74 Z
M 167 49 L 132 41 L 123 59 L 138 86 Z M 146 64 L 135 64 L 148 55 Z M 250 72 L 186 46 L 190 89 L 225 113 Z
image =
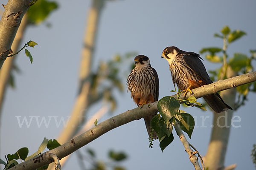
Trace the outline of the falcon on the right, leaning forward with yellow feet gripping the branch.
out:
M 192 93 L 191 89 L 193 88 L 212 83 L 199 54 L 182 51 L 172 46 L 163 50 L 162 58 L 169 62 L 172 82 L 176 83 L 180 90 L 185 91 L 184 96 L 188 91 Z M 218 93 L 204 96 L 204 99 L 217 113 L 227 108 L 232 110 Z

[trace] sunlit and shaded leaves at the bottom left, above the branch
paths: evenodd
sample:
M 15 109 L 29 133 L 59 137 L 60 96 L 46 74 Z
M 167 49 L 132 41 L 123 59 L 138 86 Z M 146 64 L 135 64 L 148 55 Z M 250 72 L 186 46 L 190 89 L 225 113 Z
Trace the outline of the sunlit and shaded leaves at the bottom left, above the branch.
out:
M 19 150 L 17 150 L 17 152 L 15 152 L 14 154 L 7 154 L 5 156 L 6 162 L 3 161 L 2 159 L 0 159 L 0 164 L 5 165 L 4 170 L 8 170 L 11 167 L 14 167 L 15 165 L 19 164 L 16 160 L 20 159 L 21 162 L 22 162 L 22 160 L 26 161 L 26 160 L 31 159 L 34 156 L 37 156 L 40 153 L 42 153 L 46 147 L 49 150 L 52 150 L 60 145 L 61 144 L 59 144 L 58 141 L 56 141 L 55 139 L 48 140 L 48 139 L 44 138 L 44 140 L 41 143 L 41 145 L 39 146 L 38 150 L 35 153 L 33 153 L 31 156 L 28 156 L 29 149 L 27 147 L 22 147 Z M 47 170 L 47 168 L 48 168 L 48 164 L 39 168 L 38 170 Z

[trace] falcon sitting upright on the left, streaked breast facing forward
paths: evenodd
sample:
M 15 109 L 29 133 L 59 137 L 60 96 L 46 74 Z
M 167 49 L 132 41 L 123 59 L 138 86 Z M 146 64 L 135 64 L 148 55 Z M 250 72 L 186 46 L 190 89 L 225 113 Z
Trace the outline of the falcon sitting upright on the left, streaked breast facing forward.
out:
M 157 71 L 151 67 L 148 57 L 144 55 L 135 57 L 134 62 L 135 68 L 127 79 L 128 92 L 131 92 L 131 97 L 137 106 L 157 101 L 159 91 Z M 143 117 L 149 136 L 152 132 L 150 122 L 155 114 Z M 157 139 L 156 132 L 154 132 L 153 138 Z

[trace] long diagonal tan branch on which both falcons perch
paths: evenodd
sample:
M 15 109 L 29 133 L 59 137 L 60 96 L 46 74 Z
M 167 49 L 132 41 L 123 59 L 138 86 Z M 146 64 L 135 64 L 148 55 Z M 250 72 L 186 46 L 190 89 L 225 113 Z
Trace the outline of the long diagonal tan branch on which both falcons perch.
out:
M 206 96 L 209 94 L 216 93 L 218 91 L 223 91 L 229 88 L 235 88 L 239 85 L 244 85 L 246 83 L 256 81 L 256 72 L 243 74 L 241 76 L 233 77 L 230 79 L 221 80 L 210 85 L 204 85 L 204 87 L 193 89 L 194 95 L 196 98 Z M 173 95 L 173 97 L 177 97 Z M 180 95 L 180 99 L 183 98 L 183 94 Z M 85 133 L 71 139 L 69 142 L 62 144 L 61 146 L 49 150 L 45 153 L 42 153 L 39 156 L 35 156 L 32 159 L 24 161 L 15 167 L 12 167 L 10 170 L 35 170 L 39 167 L 44 166 L 52 162 L 52 159 L 49 157 L 49 153 L 53 153 L 58 156 L 59 159 L 64 158 L 65 156 L 73 153 L 84 145 L 92 142 L 97 139 L 99 136 L 107 133 L 108 131 L 124 125 L 128 122 L 141 119 L 142 117 L 149 116 L 151 113 L 157 111 L 157 102 L 144 105 L 143 108 L 134 108 L 130 111 L 126 111 L 117 116 L 114 116 L 104 122 L 96 125 Z

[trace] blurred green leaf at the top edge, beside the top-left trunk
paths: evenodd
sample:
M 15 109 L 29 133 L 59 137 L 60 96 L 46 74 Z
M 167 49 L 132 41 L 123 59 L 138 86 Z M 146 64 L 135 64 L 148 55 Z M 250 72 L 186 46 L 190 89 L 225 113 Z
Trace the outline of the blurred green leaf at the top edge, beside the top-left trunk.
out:
M 29 10 L 27 11 L 29 21 L 31 23 L 39 24 L 57 7 L 58 5 L 55 2 L 38 0 L 33 6 L 29 7 Z

